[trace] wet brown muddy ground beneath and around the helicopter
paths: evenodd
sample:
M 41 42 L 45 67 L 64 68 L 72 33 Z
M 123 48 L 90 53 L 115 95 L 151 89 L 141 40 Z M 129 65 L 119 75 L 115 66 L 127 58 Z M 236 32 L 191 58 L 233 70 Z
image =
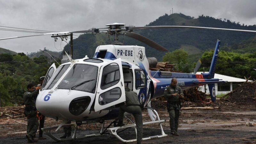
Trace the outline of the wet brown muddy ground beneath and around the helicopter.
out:
M 169 116 L 165 110 L 165 104 L 159 101 L 154 103 L 160 119 L 163 123 L 164 132 L 170 134 Z M 170 136 L 153 140 L 142 141 L 142 143 L 256 143 L 256 104 L 236 105 L 231 102 L 217 100 L 214 104 L 184 103 L 184 107 L 220 107 L 215 110 L 182 110 L 178 133 L 180 136 Z M 13 107 L 7 107 L 13 109 Z M 0 112 L 5 108 L 0 108 Z M 147 111 L 143 112 L 143 121 L 149 121 Z M 246 123 L 254 126 L 246 126 Z M 27 143 L 26 134 L 27 119 L 0 117 L 0 143 Z M 57 126 L 60 121 L 46 118 L 45 127 Z M 100 124 L 89 124 L 80 126 L 77 135 L 98 133 Z M 85 130 L 86 129 L 86 130 Z M 62 131 L 53 132 L 56 137 L 62 135 Z M 158 124 L 143 126 L 143 137 L 160 135 Z M 38 136 L 38 133 L 37 135 Z M 46 140 L 37 143 L 122 143 L 110 135 L 79 139 L 75 141 L 55 142 L 47 135 Z M 133 129 L 120 132 L 123 139 L 135 139 Z

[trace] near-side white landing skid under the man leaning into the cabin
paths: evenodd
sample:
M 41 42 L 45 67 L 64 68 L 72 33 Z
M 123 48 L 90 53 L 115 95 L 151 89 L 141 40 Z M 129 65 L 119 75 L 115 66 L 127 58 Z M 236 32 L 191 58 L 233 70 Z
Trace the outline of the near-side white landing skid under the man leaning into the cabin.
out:
M 162 127 L 162 124 L 161 123 L 164 123 L 165 120 L 160 120 L 159 116 L 158 116 L 158 113 L 156 112 L 155 109 L 151 108 L 151 107 L 144 107 L 144 108 L 147 108 L 147 109 L 151 109 L 155 114 L 156 114 L 156 117 L 157 117 L 157 121 L 150 121 L 150 122 L 144 122 L 143 125 L 146 125 L 146 124 L 159 124 L 160 125 L 160 129 L 161 129 L 161 133 L 162 135 L 155 135 L 155 136 L 150 136 L 150 137 L 147 137 L 147 138 L 142 138 L 142 140 L 150 140 L 150 139 L 156 139 L 156 138 L 162 138 L 162 137 L 166 137 L 167 134 L 164 133 L 164 130 L 163 130 L 163 127 Z M 116 137 L 118 140 L 124 142 L 124 143 L 129 143 L 129 142 L 134 142 L 134 141 L 137 141 L 137 139 L 132 139 L 132 140 L 124 140 L 122 139 L 119 135 L 118 135 L 118 132 L 117 130 L 120 130 L 120 129 L 126 129 L 126 128 L 134 128 L 135 129 L 135 133 L 136 133 L 136 136 L 137 136 L 137 131 L 136 131 L 136 124 L 129 124 L 129 125 L 124 125 L 124 126 L 118 126 L 118 127 L 113 127 L 113 128 L 108 128 L 108 131 L 111 135 L 113 135 L 114 137 Z

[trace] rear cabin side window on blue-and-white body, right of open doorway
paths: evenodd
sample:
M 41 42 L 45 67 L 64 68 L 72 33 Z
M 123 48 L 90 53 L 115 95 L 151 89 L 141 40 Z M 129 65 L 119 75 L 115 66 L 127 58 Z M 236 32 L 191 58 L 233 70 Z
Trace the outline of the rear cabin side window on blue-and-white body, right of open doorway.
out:
M 135 69 L 135 88 L 136 90 L 146 86 L 146 77 L 143 69 Z

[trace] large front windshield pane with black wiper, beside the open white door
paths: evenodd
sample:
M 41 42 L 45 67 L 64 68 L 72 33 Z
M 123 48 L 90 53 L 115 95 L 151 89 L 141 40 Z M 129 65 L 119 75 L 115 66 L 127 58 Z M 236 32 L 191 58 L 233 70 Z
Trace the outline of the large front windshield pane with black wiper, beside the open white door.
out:
M 72 89 L 94 93 L 98 67 L 88 64 L 75 64 L 63 78 L 58 89 Z

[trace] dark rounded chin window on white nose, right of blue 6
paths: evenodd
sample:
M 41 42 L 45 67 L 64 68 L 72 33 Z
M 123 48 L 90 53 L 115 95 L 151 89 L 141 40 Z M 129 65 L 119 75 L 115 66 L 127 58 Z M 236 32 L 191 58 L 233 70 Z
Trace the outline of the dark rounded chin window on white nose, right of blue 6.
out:
M 89 106 L 91 98 L 89 96 L 79 97 L 72 100 L 69 104 L 69 112 L 72 115 L 78 116 L 82 114 L 85 109 Z

